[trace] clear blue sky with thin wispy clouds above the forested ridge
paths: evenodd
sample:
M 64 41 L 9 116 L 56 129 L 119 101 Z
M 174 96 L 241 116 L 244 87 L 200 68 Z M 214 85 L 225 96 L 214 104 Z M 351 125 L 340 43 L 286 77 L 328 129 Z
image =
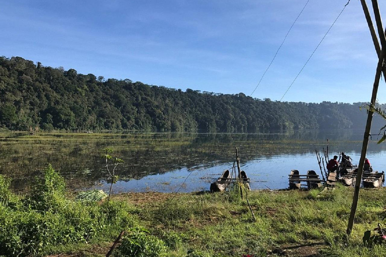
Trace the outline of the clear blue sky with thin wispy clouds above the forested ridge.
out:
M 250 95 L 306 2 L 0 0 L 0 55 L 105 78 Z M 346 3 L 310 0 L 252 96 L 279 100 Z M 369 101 L 376 64 L 360 2 L 351 0 L 283 101 Z M 385 93 L 382 80 L 379 102 Z

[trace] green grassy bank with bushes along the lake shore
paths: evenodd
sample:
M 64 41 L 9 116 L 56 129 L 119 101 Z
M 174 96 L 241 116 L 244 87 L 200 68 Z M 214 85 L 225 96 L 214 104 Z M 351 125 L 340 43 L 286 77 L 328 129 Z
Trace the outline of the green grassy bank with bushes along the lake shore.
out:
M 248 193 L 132 193 L 76 201 L 51 167 L 28 195 L 0 176 L 0 256 L 385 256 L 363 246 L 365 230 L 385 216 L 385 189 L 361 190 L 354 230 L 345 229 L 351 188 Z M 131 253 L 130 253 L 131 252 Z M 134 254 L 135 253 L 135 254 Z M 131 254 L 131 255 L 130 255 Z

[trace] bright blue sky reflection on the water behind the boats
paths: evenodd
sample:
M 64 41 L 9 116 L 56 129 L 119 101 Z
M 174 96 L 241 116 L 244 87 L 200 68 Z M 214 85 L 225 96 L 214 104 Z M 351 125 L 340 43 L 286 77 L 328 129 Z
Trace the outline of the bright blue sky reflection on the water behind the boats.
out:
M 336 153 L 338 154 L 338 153 Z M 347 152 L 358 164 L 360 153 Z M 386 171 L 386 151 L 370 152 L 367 158 L 371 161 L 374 170 Z M 209 185 L 226 169 L 231 169 L 233 162 L 218 164 L 214 167 L 182 168 L 165 174 L 149 175 L 139 180 L 119 181 L 114 185 L 114 192 L 175 192 L 181 185 L 179 192 L 192 192 L 209 190 Z M 252 190 L 256 189 L 282 189 L 288 188 L 288 174 L 292 169 L 299 170 L 301 174 L 307 174 L 308 170 L 315 170 L 322 178 L 315 153 L 294 155 L 277 155 L 261 157 L 248 161 L 241 165 L 251 180 Z M 185 183 L 185 178 L 189 176 Z M 103 183 L 96 186 L 109 190 L 109 185 Z

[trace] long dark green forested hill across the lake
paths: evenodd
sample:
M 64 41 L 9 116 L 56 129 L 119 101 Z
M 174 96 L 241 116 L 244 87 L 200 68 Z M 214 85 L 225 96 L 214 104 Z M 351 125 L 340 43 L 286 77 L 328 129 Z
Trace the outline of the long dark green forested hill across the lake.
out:
M 312 100 L 312 99 L 310 99 Z M 267 132 L 362 128 L 363 103 L 259 100 L 78 74 L 0 57 L 0 127 L 11 130 Z M 379 123 L 383 122 L 378 120 Z

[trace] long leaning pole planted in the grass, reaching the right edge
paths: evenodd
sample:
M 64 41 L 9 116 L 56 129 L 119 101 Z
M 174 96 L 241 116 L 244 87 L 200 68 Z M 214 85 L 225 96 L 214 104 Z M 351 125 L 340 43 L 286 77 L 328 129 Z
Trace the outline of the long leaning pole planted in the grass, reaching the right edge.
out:
M 375 17 L 376 16 L 377 15 L 375 15 Z M 380 17 L 379 14 L 378 14 L 378 17 Z M 379 86 L 379 79 L 380 79 L 380 76 L 381 76 L 381 73 L 382 73 L 383 60 L 384 60 L 385 56 L 386 56 L 386 47 L 382 47 L 382 50 L 381 50 L 380 56 L 379 56 L 379 60 L 378 60 L 378 65 L 377 65 L 377 68 L 376 68 L 374 84 L 373 84 L 373 87 L 372 87 L 372 95 L 371 95 L 370 106 L 375 106 L 376 95 L 377 95 L 378 86 Z M 359 189 L 360 189 L 360 183 L 361 183 L 361 180 L 362 180 L 362 172 L 363 172 L 364 159 L 366 158 L 368 139 L 369 139 L 369 136 L 370 136 L 372 114 L 373 114 L 373 112 L 369 109 L 368 113 L 367 113 L 366 129 L 365 129 L 364 135 L 363 135 L 362 152 L 360 154 L 358 174 L 356 175 L 356 182 L 355 182 L 355 189 L 354 189 L 354 198 L 352 200 L 350 218 L 348 220 L 348 225 L 347 225 L 347 230 L 346 230 L 348 235 L 351 234 L 352 227 L 354 225 L 354 218 L 355 218 L 356 207 L 358 205 Z

